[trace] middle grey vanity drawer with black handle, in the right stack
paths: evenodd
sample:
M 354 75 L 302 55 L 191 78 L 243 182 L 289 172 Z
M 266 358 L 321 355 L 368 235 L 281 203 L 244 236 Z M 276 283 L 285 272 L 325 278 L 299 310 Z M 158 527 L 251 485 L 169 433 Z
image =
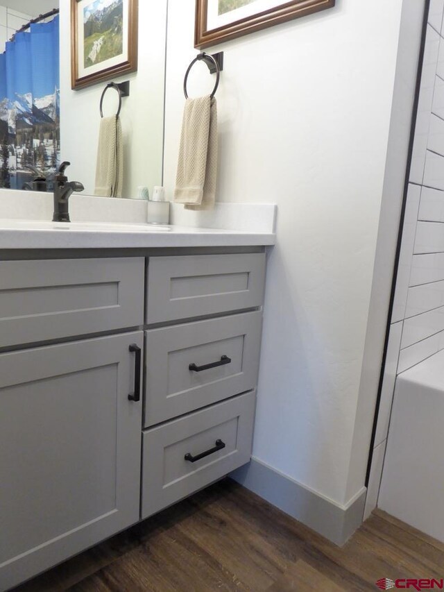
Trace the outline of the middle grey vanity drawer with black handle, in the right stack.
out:
M 254 389 L 261 330 L 255 311 L 146 331 L 145 427 Z

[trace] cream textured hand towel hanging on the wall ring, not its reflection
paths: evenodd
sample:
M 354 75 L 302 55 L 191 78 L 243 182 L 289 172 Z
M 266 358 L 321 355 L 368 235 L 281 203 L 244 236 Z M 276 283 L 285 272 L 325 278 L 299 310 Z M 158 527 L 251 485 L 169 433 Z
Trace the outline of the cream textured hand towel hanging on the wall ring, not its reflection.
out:
M 174 202 L 188 210 L 214 207 L 217 178 L 217 103 L 210 95 L 187 99 Z

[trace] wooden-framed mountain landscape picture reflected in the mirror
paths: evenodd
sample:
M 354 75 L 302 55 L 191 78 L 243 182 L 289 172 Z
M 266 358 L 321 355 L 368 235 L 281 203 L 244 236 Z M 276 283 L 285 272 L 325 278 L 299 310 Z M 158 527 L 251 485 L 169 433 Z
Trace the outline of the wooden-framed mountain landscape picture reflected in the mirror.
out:
M 71 0 L 71 87 L 137 71 L 137 37 L 138 0 Z

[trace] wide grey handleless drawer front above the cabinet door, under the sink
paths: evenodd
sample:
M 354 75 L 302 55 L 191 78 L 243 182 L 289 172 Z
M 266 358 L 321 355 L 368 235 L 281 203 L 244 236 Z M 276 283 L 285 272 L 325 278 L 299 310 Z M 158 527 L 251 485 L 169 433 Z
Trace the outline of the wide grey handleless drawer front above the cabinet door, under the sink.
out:
M 0 347 L 143 322 L 143 257 L 0 262 Z

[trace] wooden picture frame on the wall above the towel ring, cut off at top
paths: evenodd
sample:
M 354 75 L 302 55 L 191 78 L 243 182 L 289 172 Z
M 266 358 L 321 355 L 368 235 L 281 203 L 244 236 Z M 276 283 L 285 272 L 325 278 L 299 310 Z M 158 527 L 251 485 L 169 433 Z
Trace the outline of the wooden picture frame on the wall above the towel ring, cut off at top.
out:
M 215 15 L 215 8 L 218 5 L 220 7 L 221 3 L 225 3 L 225 6 L 230 6 L 230 3 L 231 6 L 237 4 L 238 6 L 225 11 L 225 15 L 221 17 L 220 8 Z M 253 33 L 253 31 L 260 31 L 278 23 L 311 15 L 319 10 L 332 8 L 334 3 L 335 0 L 293 0 L 285 3 L 276 0 L 274 2 L 275 6 L 262 10 L 262 12 L 255 12 L 257 10 L 255 0 L 196 0 L 194 46 L 202 49 L 235 37 L 241 37 L 241 35 Z M 259 6 L 264 6 L 264 4 L 273 5 L 273 0 L 268 2 L 261 0 L 260 4 L 258 1 Z M 230 13 L 232 21 L 230 21 Z M 225 22 L 219 24 L 219 20 Z

